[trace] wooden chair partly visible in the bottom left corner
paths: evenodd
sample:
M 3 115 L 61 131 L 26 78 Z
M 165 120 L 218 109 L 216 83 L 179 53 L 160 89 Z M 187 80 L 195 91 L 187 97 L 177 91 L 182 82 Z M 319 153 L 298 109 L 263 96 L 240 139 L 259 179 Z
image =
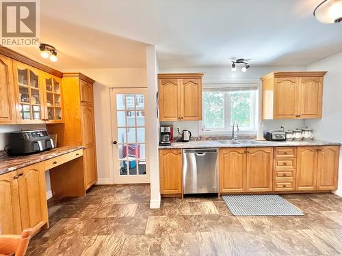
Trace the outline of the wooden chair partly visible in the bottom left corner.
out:
M 0 256 L 24 256 L 29 245 L 33 229 L 24 229 L 19 235 L 1 235 L 0 236 Z

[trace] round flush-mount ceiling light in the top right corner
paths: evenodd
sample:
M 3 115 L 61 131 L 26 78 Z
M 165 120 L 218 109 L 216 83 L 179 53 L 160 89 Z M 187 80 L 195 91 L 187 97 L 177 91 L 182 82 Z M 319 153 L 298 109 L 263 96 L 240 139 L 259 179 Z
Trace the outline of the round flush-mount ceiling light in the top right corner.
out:
M 342 0 L 325 0 L 315 8 L 313 16 L 321 23 L 339 23 L 342 20 Z

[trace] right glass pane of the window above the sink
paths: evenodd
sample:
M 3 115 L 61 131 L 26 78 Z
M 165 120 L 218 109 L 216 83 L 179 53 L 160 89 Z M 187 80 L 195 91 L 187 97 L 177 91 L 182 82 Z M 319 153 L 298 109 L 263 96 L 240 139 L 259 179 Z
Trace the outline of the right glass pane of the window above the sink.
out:
M 237 121 L 239 127 L 252 127 L 252 92 L 231 92 L 231 124 Z

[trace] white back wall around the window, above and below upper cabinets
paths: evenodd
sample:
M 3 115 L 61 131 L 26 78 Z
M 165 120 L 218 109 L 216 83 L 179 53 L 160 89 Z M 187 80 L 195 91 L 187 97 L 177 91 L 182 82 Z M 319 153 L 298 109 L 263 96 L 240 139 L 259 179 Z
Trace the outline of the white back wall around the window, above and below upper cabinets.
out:
M 237 67 L 235 72 L 231 71 L 231 67 L 185 67 L 185 68 L 160 68 L 159 73 L 191 73 L 203 72 L 203 83 L 205 81 L 259 81 L 261 76 L 270 72 L 277 71 L 305 71 L 306 66 L 257 66 L 251 67 L 247 72 L 241 72 L 241 68 Z M 162 122 L 162 124 L 172 124 L 174 126 L 174 136 L 176 128 L 179 130 L 187 129 L 192 132 L 193 137 L 198 136 L 198 124 L 196 121 L 182 121 L 182 122 Z M 264 120 L 264 130 L 271 130 L 284 126 L 287 130 L 304 127 L 303 120 Z

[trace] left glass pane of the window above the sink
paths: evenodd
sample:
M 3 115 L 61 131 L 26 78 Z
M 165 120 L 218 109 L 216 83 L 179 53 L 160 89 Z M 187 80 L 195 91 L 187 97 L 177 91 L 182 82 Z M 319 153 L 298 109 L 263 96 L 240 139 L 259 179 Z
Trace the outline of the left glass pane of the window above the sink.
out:
M 203 91 L 205 128 L 224 128 L 224 92 Z

